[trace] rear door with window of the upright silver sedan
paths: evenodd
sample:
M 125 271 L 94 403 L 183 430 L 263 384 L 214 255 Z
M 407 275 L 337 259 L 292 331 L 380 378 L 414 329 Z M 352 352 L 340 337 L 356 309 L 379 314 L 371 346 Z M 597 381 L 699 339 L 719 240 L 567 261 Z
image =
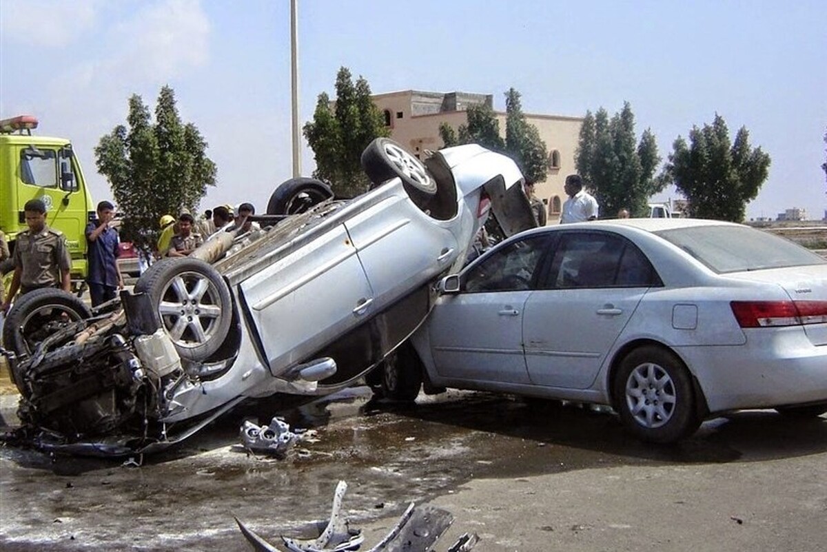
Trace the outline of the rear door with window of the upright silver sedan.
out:
M 538 385 L 589 388 L 657 274 L 610 232 L 563 233 L 550 267 L 523 313 L 528 374 Z

